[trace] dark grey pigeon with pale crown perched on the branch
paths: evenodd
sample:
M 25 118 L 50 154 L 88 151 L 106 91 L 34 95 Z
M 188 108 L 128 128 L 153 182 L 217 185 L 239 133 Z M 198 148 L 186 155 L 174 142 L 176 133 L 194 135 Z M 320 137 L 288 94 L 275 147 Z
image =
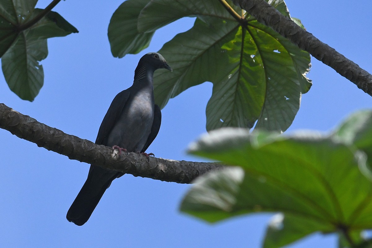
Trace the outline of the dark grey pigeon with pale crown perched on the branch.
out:
M 119 148 L 127 152 L 145 153 L 157 136 L 160 107 L 154 103 L 154 71 L 172 71 L 164 57 L 157 52 L 145 54 L 138 62 L 131 87 L 113 99 L 98 131 L 96 144 Z M 91 165 L 88 178 L 67 212 L 68 221 L 84 225 L 111 182 L 124 173 Z

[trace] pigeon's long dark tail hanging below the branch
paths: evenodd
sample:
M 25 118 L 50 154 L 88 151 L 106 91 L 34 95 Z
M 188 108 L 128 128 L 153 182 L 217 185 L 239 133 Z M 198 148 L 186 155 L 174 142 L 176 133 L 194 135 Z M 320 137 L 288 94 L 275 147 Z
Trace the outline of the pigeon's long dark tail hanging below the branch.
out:
M 112 180 L 121 175 L 118 171 L 91 165 L 88 178 L 67 212 L 68 221 L 84 225 Z

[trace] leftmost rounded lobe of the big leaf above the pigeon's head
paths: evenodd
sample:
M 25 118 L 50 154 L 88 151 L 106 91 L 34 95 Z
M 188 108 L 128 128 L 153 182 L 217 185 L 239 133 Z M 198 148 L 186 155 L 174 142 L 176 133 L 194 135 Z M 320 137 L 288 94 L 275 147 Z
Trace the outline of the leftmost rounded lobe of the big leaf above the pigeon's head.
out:
M 137 30 L 138 15 L 149 2 L 150 0 L 128 0 L 113 13 L 108 37 L 114 57 L 137 54 L 150 44 L 154 32 L 139 33 Z

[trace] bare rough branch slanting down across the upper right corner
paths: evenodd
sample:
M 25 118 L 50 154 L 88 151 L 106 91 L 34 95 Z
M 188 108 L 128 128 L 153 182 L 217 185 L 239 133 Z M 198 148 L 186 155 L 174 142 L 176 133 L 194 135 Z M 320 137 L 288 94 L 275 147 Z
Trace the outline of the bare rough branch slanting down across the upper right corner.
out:
M 290 18 L 264 0 L 233 0 L 233 3 L 246 10 L 259 22 L 269 26 L 283 37 L 289 39 L 314 58 L 333 68 L 337 73 L 352 81 L 358 88 L 372 96 L 372 75 L 342 54 L 324 44 L 314 35 L 302 29 Z

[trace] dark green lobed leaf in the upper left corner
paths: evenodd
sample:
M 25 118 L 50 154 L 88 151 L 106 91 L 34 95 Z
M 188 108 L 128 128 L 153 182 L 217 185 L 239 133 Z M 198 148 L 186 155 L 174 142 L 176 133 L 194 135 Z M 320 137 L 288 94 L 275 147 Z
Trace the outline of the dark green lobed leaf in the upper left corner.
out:
M 37 0 L 0 3 L 0 57 L 9 88 L 21 99 L 33 101 L 44 83 L 39 62 L 48 55 L 47 38 L 66 36 L 78 30 L 57 12 L 49 12 L 35 25 L 26 25 L 42 10 L 34 9 Z

